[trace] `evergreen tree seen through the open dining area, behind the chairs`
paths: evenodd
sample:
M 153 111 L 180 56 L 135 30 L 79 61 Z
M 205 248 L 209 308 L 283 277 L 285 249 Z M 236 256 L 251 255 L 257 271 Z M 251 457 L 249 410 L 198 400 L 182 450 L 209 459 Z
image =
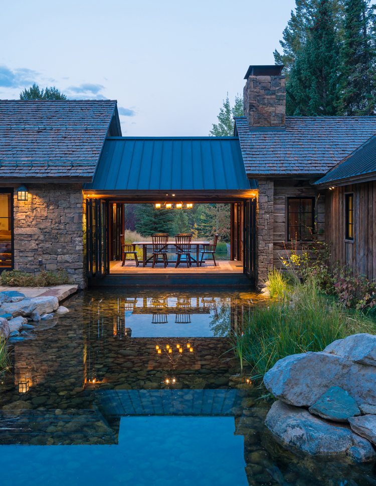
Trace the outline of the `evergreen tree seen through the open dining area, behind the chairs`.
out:
M 138 204 L 136 213 L 136 230 L 142 236 L 153 233 L 170 233 L 173 220 L 173 210 L 155 208 L 153 204 Z

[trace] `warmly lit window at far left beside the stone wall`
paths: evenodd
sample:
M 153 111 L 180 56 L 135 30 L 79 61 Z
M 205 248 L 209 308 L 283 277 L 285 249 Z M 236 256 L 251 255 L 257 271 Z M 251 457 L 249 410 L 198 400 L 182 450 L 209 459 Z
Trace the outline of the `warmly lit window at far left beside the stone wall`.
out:
M 0 271 L 12 268 L 12 202 L 13 193 L 0 190 Z

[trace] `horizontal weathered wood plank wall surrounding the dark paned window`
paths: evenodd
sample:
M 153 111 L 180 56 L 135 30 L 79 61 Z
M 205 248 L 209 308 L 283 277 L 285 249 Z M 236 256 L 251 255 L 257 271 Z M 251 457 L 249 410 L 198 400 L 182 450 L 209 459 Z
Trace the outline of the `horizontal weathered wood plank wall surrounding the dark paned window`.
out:
M 325 191 L 318 191 L 308 181 L 299 180 L 275 180 L 274 181 L 274 236 L 273 236 L 273 263 L 281 268 L 280 257 L 291 253 L 291 249 L 300 252 L 307 242 L 287 241 L 287 198 L 288 197 L 314 197 L 315 226 L 317 239 L 325 239 Z

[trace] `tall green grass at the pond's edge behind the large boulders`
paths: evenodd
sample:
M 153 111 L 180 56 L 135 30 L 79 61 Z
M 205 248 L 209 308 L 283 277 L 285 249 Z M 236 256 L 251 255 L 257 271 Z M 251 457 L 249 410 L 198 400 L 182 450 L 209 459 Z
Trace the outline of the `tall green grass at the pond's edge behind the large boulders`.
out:
M 376 326 L 360 313 L 349 313 L 329 300 L 314 279 L 300 284 L 269 274 L 270 298 L 244 319 L 242 335 L 234 336 L 238 357 L 263 376 L 281 358 L 306 351 L 322 351 L 336 339 L 357 332 L 376 333 Z M 242 365 L 242 362 L 241 362 Z

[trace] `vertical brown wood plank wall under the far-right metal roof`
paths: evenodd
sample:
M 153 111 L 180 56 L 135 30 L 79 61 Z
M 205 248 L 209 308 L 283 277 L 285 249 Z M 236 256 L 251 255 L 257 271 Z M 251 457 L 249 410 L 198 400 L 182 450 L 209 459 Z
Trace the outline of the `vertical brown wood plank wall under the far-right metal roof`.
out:
M 354 193 L 354 242 L 345 241 L 345 194 Z M 376 279 L 376 181 L 326 190 L 325 233 L 332 263 Z

